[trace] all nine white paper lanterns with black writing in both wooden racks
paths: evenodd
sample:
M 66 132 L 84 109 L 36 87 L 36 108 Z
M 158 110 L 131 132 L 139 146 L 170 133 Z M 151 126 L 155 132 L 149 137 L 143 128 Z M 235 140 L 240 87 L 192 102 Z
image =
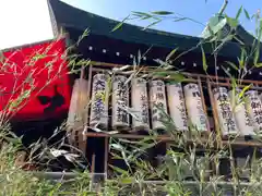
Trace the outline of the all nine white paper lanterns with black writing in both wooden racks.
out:
M 207 131 L 207 117 L 198 84 L 182 86 L 180 83 L 165 84 L 162 79 L 155 79 L 148 82 L 147 89 L 147 81 L 141 77 L 132 78 L 131 85 L 123 75 L 114 76 L 111 84 L 109 81 L 106 74 L 93 76 L 91 126 L 108 128 L 111 95 L 114 130 L 130 130 L 131 118 L 133 130 L 148 130 L 150 124 L 152 130 L 165 130 L 163 120 L 169 113 L 178 131 L 188 131 L 189 127 Z M 212 108 L 217 111 L 223 135 L 254 135 L 254 131 L 262 130 L 262 102 L 257 90 L 247 91 L 247 99 L 241 101 L 238 99 L 240 90 L 228 91 L 225 87 L 212 90 Z

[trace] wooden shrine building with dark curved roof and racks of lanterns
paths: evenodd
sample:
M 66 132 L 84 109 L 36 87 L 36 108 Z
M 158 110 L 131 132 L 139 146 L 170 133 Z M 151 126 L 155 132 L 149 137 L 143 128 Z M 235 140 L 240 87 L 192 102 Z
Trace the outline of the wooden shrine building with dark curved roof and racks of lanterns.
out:
M 240 57 L 241 47 L 243 47 L 238 41 L 228 41 L 221 49 L 216 63 L 217 66 L 213 65 L 215 62 L 212 57 L 212 47 L 210 45 L 204 46 L 209 64 L 206 70 L 207 76 L 202 66 L 202 50 L 198 47 L 198 44 L 201 41 L 199 37 L 155 29 L 142 30 L 141 27 L 130 24 L 123 24 L 118 30 L 111 32 L 119 22 L 82 11 L 57 0 L 48 0 L 48 5 L 55 34 L 59 35 L 61 30 L 66 32 L 69 46 L 78 42 L 86 29 L 90 30 L 88 36 L 84 37 L 76 45 L 73 53 L 79 54 L 80 59 L 90 59 L 91 63 L 85 70 L 82 70 L 81 75 L 70 77 L 73 78 L 71 84 L 74 85 L 72 85 L 73 90 L 69 113 L 64 113 L 58 119 L 59 122 L 61 122 L 61 119 L 68 120 L 69 143 L 86 156 L 90 164 L 92 164 L 91 170 L 93 172 L 107 174 L 110 170 L 109 164 L 124 168 L 123 161 L 118 162 L 110 157 L 110 138 L 142 139 L 148 136 L 147 130 L 163 131 L 159 123 L 159 113 L 154 112 L 156 106 L 152 105 L 155 97 L 158 103 L 162 103 L 162 109 L 166 113 L 177 117 L 172 118 L 172 121 L 182 122 L 182 120 L 188 121 L 188 119 L 191 122 L 195 121 L 196 128 L 203 133 L 203 137 L 199 143 L 203 151 L 203 147 L 206 144 L 207 148 L 221 149 L 228 147 L 230 134 L 236 135 L 240 132 L 240 139 L 230 144 L 236 151 L 236 158 L 247 157 L 254 148 L 259 151 L 258 156 L 261 156 L 262 143 L 253 139 L 252 128 L 247 131 L 248 126 L 254 126 L 258 131 L 261 131 L 262 127 L 262 102 L 258 98 L 262 89 L 261 69 L 250 70 L 246 78 L 241 81 L 242 86 L 253 84 L 247 94 L 250 96 L 250 101 L 247 105 L 259 106 L 259 109 L 255 108 L 251 111 L 250 118 L 254 119 L 253 124 L 240 124 L 240 114 L 225 114 L 226 119 L 224 114 L 221 114 L 225 113 L 225 111 L 219 108 L 222 102 L 219 102 L 218 97 L 223 95 L 222 101 L 230 102 L 230 94 L 228 91 L 231 90 L 231 81 L 225 74 L 222 65 L 225 65 L 226 61 L 237 63 L 237 57 Z M 237 37 L 247 48 L 254 40 L 241 26 L 237 28 Z M 134 59 L 138 60 L 139 51 L 141 59 L 136 70 L 141 68 L 138 75 L 142 77 L 144 74 L 165 72 L 165 70 L 157 68 L 159 62 L 157 63 L 155 60 L 166 58 L 175 48 L 178 48 L 177 56 L 182 56 L 176 61 L 170 59 L 168 62 L 176 70 L 183 71 L 182 74 L 187 79 L 182 79 L 180 85 L 170 84 L 170 79 L 166 76 L 160 76 L 160 74 L 156 74 L 153 81 L 148 81 L 148 84 L 146 79 L 128 81 L 133 73 L 133 62 Z M 259 61 L 262 61 L 262 57 L 260 57 Z M 121 70 L 123 68 L 126 69 Z M 233 68 L 226 65 L 225 68 L 228 73 L 237 74 Z M 112 70 L 119 71 L 111 81 L 112 86 L 109 87 L 108 73 L 111 73 Z M 176 70 L 169 73 L 176 75 Z M 216 74 L 218 77 L 214 76 Z M 127 81 L 128 83 L 126 83 Z M 119 88 L 121 93 L 114 95 L 112 91 L 119 90 Z M 136 95 L 140 95 L 138 90 L 144 91 L 143 99 L 138 99 L 139 96 Z M 172 97 L 175 94 L 182 98 Z M 193 96 L 190 96 L 191 94 Z M 118 102 L 120 98 L 122 103 Z M 136 99 L 138 101 L 134 101 Z M 90 103 L 91 100 L 93 101 L 92 103 Z M 147 103 L 142 103 L 142 100 L 145 100 Z M 103 101 L 104 103 L 102 103 Z M 252 103 L 252 101 L 257 102 Z M 97 106 L 94 106 L 95 103 Z M 184 114 L 181 115 L 181 120 L 178 120 L 180 118 L 176 110 L 178 106 L 183 108 Z M 142 122 L 136 121 L 134 117 L 124 112 L 124 109 L 121 107 L 126 107 L 126 109 L 129 107 L 143 108 L 143 117 L 147 118 L 144 118 Z M 194 110 L 193 107 L 198 107 L 200 110 Z M 230 107 L 227 105 L 222 108 L 233 112 Z M 251 107 L 251 109 L 253 108 Z M 98 117 L 96 117 L 97 113 Z M 120 117 L 119 113 L 122 113 L 122 115 Z M 75 115 L 80 115 L 81 119 L 75 121 Z M 194 117 L 202 117 L 202 119 L 195 120 Z M 238 117 L 238 120 L 236 117 Z M 231 121 L 231 119 L 236 120 Z M 227 130 L 224 125 L 229 120 L 230 128 Z M 55 121 L 58 120 L 53 120 L 53 128 L 57 125 Z M 246 122 L 246 119 L 242 121 Z M 119 122 L 121 123 L 119 124 Z M 178 130 L 182 131 L 180 132 L 182 134 L 190 128 L 187 123 L 181 123 L 178 127 Z M 240 131 L 241 128 L 242 131 Z M 110 133 L 116 130 L 118 130 L 117 133 Z M 216 140 L 218 133 L 223 137 L 221 142 Z M 148 152 L 152 158 L 151 161 L 155 166 L 157 166 L 157 161 L 154 157 L 165 155 L 168 145 L 176 140 L 165 132 L 159 132 L 156 139 L 160 142 L 160 145 Z M 188 137 L 187 143 L 190 145 L 193 143 L 193 139 Z M 211 144 L 213 146 L 210 146 Z

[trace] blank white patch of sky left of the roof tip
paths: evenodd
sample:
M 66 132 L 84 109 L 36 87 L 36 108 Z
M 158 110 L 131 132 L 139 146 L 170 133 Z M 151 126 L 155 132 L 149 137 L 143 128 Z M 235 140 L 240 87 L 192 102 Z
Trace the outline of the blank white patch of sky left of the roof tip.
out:
M 52 37 L 47 0 L 0 0 L 0 49 Z

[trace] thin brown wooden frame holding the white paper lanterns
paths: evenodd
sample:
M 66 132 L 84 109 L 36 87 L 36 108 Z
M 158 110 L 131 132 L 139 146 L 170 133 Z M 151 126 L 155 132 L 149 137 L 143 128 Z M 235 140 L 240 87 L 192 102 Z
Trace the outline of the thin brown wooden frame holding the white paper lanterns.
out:
M 94 75 L 94 73 L 97 72 L 103 72 L 105 70 L 110 71 L 112 68 L 121 68 L 123 65 L 120 64 L 114 64 L 114 63 L 103 63 L 103 62 L 91 62 L 91 65 L 88 68 L 88 93 L 91 96 L 91 88 L 92 88 L 92 77 Z M 132 66 L 130 66 L 132 68 Z M 143 73 L 148 73 L 151 72 L 151 66 L 146 66 L 143 70 Z M 160 70 L 159 70 L 160 71 Z M 202 103 L 204 107 L 204 111 L 205 114 L 207 114 L 207 107 L 205 105 L 205 99 L 204 99 L 204 91 L 203 91 L 203 85 L 205 84 L 207 87 L 207 93 L 209 93 L 209 97 L 210 97 L 210 102 L 214 106 L 214 100 L 213 100 L 213 96 L 212 96 L 212 86 L 214 85 L 219 85 L 219 86 L 226 86 L 226 87 L 230 87 L 230 81 L 229 78 L 225 78 L 225 77 L 216 77 L 216 76 L 206 76 L 206 75 L 202 75 L 202 74 L 191 74 L 191 73 L 183 73 L 184 75 L 189 76 L 190 78 L 187 79 L 187 82 L 194 82 L 199 85 L 200 89 L 201 89 L 201 97 L 202 97 Z M 262 82 L 260 81 L 249 81 L 249 79 L 238 79 L 238 83 L 240 83 L 239 86 L 245 86 L 245 84 L 254 84 L 254 86 L 252 86 L 252 89 L 262 89 Z M 90 105 L 88 105 L 90 106 Z M 90 108 L 88 108 L 90 110 Z M 90 113 L 88 113 L 90 114 Z M 215 110 L 213 110 L 213 117 L 215 120 L 215 126 L 216 130 L 218 130 L 218 117 Z M 90 118 L 90 115 L 87 115 L 87 118 Z M 210 130 L 210 124 L 207 124 L 207 134 L 210 135 L 211 130 Z M 82 133 L 82 132 L 81 132 Z M 104 150 L 104 173 L 107 174 L 108 172 L 108 155 L 109 155 L 109 138 L 124 138 L 124 139 L 143 139 L 145 136 L 150 136 L 150 135 L 141 135 L 139 133 L 134 133 L 134 132 L 130 132 L 128 134 L 126 133 L 117 133 L 117 134 L 107 134 L 107 133 L 95 133 L 95 132 L 87 132 L 85 133 L 86 138 L 88 137 L 94 137 L 94 138 L 105 138 L 105 150 Z M 176 139 L 174 137 L 167 136 L 167 135 L 158 135 L 157 137 L 154 137 L 156 140 L 162 142 L 162 143 L 169 143 L 169 144 L 174 144 L 176 143 Z M 86 140 L 86 139 L 85 139 Z M 86 142 L 83 140 L 82 145 L 86 145 Z M 195 143 L 194 139 L 188 138 L 187 139 L 187 145 L 191 145 Z M 198 142 L 196 142 L 198 143 Z M 229 146 L 234 147 L 234 148 L 245 148 L 245 147 L 262 147 L 262 143 L 258 142 L 258 140 L 234 140 L 230 142 L 227 139 L 223 139 L 217 142 L 216 138 L 214 137 L 202 137 L 201 140 L 199 140 L 199 146 L 201 148 L 205 148 L 206 144 L 212 144 L 212 145 L 207 145 L 210 146 L 210 148 L 215 148 L 215 149 L 224 149 L 224 148 L 228 148 Z M 88 149 L 87 149 L 88 152 Z M 92 168 L 94 170 L 94 162 L 95 161 L 95 156 L 92 159 Z

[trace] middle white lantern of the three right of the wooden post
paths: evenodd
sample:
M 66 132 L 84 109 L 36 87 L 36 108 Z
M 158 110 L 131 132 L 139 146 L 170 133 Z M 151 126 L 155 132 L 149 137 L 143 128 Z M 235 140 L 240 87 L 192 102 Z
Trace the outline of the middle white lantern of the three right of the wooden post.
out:
M 246 103 L 243 100 L 239 100 L 239 89 L 235 91 L 229 91 L 230 103 L 233 108 L 233 113 L 241 135 L 254 135 L 252 121 L 246 109 Z

